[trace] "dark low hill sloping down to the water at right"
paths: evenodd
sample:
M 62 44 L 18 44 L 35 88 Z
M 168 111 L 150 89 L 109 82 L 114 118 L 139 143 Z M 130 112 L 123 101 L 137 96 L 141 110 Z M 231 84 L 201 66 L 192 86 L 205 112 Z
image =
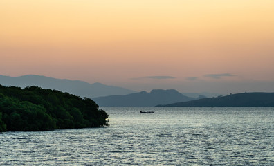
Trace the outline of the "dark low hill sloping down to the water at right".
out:
M 217 98 L 203 98 L 189 102 L 158 105 L 160 107 L 274 107 L 274 93 L 237 93 L 219 96 Z

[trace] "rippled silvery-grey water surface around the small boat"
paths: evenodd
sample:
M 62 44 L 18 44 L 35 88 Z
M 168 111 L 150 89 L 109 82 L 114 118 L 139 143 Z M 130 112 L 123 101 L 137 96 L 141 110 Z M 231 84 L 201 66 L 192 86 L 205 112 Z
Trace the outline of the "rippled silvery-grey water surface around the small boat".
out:
M 274 107 L 102 109 L 110 127 L 0 134 L 0 165 L 274 165 Z

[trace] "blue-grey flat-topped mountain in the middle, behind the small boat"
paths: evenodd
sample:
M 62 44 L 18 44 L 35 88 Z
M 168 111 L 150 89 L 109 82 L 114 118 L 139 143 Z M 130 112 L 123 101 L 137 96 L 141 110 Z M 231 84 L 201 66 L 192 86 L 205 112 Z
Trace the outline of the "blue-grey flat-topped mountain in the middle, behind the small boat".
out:
M 172 102 L 186 102 L 194 98 L 182 95 L 174 89 L 154 89 L 150 93 L 141 91 L 129 95 L 111 95 L 93 98 L 100 106 L 105 107 L 154 107 L 157 104 L 168 104 Z

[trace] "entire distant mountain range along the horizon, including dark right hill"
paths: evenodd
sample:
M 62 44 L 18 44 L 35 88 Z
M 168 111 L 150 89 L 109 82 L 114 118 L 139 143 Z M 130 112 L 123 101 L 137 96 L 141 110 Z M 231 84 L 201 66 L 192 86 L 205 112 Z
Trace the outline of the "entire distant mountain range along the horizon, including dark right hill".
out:
M 111 107 L 274 107 L 274 93 L 237 93 L 217 98 L 206 98 L 201 93 L 179 93 L 174 89 L 154 89 L 137 93 L 118 86 L 89 84 L 79 80 L 56 79 L 41 75 L 9 77 L 0 75 L 3 86 L 39 86 L 92 98 L 100 106 Z M 210 94 L 210 93 L 207 93 Z M 199 96 L 198 96 L 199 95 Z M 212 93 L 213 95 L 213 93 Z M 195 96 L 193 98 L 193 96 Z M 173 104 L 171 104 L 173 103 Z

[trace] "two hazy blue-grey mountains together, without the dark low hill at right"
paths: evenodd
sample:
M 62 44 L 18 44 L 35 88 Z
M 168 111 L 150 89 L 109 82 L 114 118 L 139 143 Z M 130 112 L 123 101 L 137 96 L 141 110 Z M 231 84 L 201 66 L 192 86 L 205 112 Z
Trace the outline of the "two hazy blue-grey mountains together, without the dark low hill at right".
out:
M 42 75 L 23 75 L 19 77 L 10 77 L 0 75 L 0 84 L 3 86 L 39 86 L 43 89 L 55 89 L 62 92 L 68 92 L 79 95 L 84 98 L 92 98 L 101 107 L 145 107 L 156 106 L 157 104 L 170 104 L 173 102 L 186 102 L 199 98 L 206 98 L 199 93 L 198 98 L 191 98 L 179 93 L 174 89 L 161 90 L 154 89 L 150 93 L 141 91 L 131 91 L 118 86 L 108 86 L 101 83 L 89 84 L 79 80 L 56 79 Z

